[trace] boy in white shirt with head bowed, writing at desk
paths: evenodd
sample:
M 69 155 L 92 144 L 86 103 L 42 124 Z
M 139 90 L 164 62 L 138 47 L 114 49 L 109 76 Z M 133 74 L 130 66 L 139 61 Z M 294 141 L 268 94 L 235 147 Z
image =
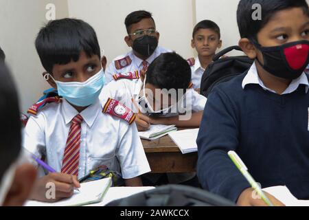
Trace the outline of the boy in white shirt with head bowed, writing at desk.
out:
M 141 72 L 137 83 L 129 79 L 118 79 L 104 87 L 99 98 L 101 102 L 114 98 L 134 109 L 138 113 L 135 122 L 139 131 L 148 130 L 150 124 L 198 127 L 207 98 L 194 89 L 188 89 L 190 82 L 190 66 L 187 62 L 176 53 L 165 53 L 152 62 L 146 74 Z M 159 96 L 156 96 L 158 89 L 182 91 L 182 94 L 175 99 L 163 91 L 160 100 Z M 168 102 L 164 102 L 165 97 Z

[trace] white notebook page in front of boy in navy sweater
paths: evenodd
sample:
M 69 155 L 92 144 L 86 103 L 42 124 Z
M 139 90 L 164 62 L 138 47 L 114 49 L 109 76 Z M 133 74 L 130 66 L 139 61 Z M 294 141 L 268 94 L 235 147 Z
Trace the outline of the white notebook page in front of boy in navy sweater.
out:
M 279 199 L 286 206 L 309 206 L 309 200 L 295 198 L 286 186 L 272 186 L 263 188 L 263 190 Z

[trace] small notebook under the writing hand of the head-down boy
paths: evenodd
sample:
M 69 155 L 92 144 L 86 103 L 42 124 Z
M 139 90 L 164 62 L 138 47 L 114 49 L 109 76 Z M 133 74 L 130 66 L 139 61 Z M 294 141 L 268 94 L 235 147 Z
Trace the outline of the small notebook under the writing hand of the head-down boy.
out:
M 156 140 L 159 137 L 167 135 L 171 131 L 176 131 L 175 125 L 151 124 L 148 131 L 140 131 L 139 137 L 146 140 Z

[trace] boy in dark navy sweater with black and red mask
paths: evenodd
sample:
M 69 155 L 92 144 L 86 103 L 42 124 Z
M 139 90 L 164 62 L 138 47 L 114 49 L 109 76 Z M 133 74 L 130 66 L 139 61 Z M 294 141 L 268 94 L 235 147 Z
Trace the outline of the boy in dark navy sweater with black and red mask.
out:
M 286 185 L 298 199 L 309 199 L 308 4 L 241 0 L 237 16 L 239 45 L 255 63 L 207 100 L 196 141 L 198 178 L 240 206 L 265 206 L 229 159 L 232 150 L 262 188 Z

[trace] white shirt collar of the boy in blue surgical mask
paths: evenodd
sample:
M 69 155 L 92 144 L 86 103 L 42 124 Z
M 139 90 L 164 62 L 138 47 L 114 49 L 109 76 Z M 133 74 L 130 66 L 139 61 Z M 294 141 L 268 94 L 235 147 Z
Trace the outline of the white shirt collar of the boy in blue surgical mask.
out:
M 84 111 L 79 114 L 84 119 L 84 122 L 91 127 L 101 110 L 102 107 L 100 105 L 100 101 L 97 99 L 94 104 L 91 104 L 91 106 L 87 107 L 87 109 L 84 109 Z M 65 118 L 65 124 L 71 123 L 71 120 L 78 115 L 78 111 L 74 109 L 64 98 L 62 99 L 62 113 Z

